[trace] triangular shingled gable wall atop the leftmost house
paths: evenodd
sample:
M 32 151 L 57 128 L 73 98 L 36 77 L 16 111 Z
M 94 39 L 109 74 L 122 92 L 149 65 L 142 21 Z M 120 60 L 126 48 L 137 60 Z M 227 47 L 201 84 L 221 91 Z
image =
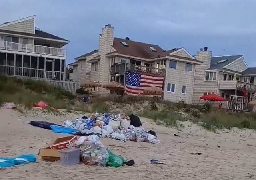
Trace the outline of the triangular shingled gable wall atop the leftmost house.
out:
M 18 22 L 15 24 L 11 24 L 9 26 L 4 26 L 0 29 L 34 34 L 34 18 L 30 20 Z

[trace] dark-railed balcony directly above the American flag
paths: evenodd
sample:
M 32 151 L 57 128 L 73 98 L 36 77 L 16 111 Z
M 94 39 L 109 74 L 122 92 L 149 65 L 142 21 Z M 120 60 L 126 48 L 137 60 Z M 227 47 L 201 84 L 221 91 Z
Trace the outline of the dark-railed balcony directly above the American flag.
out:
M 110 74 L 115 75 L 119 73 L 125 73 L 126 71 L 165 76 L 165 69 L 158 69 L 155 67 L 147 67 L 128 63 L 112 65 L 110 69 Z

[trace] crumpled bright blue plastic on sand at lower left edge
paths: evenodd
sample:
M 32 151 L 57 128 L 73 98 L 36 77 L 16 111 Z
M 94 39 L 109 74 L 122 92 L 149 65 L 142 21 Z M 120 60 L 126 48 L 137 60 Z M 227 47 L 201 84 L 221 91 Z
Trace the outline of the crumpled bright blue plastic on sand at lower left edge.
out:
M 36 162 L 36 155 L 24 154 L 15 158 L 0 157 L 0 168 L 8 168 L 19 164 L 28 164 L 30 162 Z

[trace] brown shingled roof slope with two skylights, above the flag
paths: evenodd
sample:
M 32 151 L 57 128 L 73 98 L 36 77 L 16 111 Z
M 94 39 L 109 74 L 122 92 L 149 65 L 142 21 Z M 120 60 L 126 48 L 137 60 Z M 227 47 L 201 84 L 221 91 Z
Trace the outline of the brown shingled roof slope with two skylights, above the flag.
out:
M 121 41 L 125 42 L 129 46 L 123 45 Z M 134 57 L 141 57 L 145 59 L 152 59 L 158 57 L 158 55 L 164 52 L 164 50 L 158 45 L 136 42 L 116 37 L 114 37 L 113 47 L 114 49 L 116 49 L 115 53 L 130 55 Z M 148 49 L 148 47 L 153 47 L 154 49 L 156 49 L 156 51 L 151 51 L 150 49 Z

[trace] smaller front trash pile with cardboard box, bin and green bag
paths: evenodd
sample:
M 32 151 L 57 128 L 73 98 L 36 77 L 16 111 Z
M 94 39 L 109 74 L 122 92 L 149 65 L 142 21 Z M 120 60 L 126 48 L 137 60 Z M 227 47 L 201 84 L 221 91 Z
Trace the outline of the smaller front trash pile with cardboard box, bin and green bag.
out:
M 38 155 L 48 161 L 60 160 L 62 165 L 74 165 L 80 161 L 86 165 L 96 166 L 120 167 L 126 164 L 122 156 L 107 150 L 97 135 L 57 138 L 49 146 L 41 148 Z M 130 161 L 127 161 L 128 166 L 130 166 Z

